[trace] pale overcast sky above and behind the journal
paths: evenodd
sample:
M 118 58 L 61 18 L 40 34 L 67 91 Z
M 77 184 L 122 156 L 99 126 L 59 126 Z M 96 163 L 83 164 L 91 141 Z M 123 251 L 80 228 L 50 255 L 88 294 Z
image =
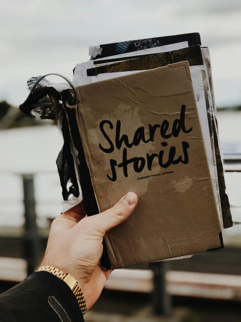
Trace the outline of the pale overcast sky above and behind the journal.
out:
M 0 21 L 0 100 L 15 106 L 31 76 L 72 79 L 89 45 L 191 32 L 210 48 L 217 105 L 241 105 L 241 0 L 8 0 Z

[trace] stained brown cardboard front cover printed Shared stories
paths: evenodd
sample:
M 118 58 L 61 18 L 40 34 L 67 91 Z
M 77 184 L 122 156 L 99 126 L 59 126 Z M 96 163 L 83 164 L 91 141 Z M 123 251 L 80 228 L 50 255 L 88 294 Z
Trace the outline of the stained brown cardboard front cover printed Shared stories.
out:
M 105 236 L 112 268 L 221 246 L 188 68 L 78 87 L 78 128 L 99 211 L 128 191 L 139 197 L 129 219 Z

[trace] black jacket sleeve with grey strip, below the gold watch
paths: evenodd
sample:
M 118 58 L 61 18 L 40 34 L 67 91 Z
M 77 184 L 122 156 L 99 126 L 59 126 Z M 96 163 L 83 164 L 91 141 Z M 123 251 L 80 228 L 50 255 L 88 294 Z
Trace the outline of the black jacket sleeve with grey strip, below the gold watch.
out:
M 45 271 L 0 295 L 0 322 L 84 322 L 68 285 Z

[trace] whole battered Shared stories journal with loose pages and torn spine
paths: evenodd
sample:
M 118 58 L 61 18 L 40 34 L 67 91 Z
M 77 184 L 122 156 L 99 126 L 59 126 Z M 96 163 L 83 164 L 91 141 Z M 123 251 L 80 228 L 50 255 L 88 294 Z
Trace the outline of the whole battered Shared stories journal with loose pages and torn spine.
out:
M 54 91 L 48 94 L 65 138 L 57 164 L 63 190 L 67 181 L 72 185 L 68 207 L 83 198 L 93 215 L 128 191 L 139 198 L 129 219 L 106 233 L 102 265 L 114 269 L 222 248 L 221 231 L 232 219 L 210 55 L 199 33 L 89 52 L 91 60 L 74 69 L 76 105 L 68 104 L 72 90 L 58 93 L 63 105 Z

